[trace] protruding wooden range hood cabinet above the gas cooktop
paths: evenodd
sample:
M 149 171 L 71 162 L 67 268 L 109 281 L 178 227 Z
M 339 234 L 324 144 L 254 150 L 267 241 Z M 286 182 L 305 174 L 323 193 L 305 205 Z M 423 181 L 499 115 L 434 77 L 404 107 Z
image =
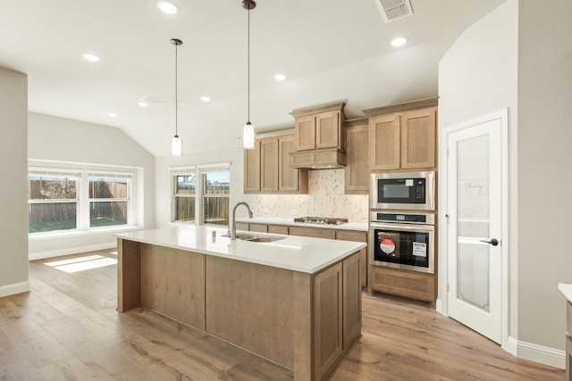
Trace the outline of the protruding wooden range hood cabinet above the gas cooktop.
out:
M 345 136 L 341 123 L 345 104 L 290 112 L 295 118 L 293 163 L 295 168 L 335 168 L 345 165 Z

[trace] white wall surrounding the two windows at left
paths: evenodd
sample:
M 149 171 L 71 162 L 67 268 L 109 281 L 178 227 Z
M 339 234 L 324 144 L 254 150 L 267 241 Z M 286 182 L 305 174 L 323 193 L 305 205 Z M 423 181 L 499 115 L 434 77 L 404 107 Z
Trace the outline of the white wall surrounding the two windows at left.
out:
M 54 161 L 121 166 L 137 169 L 142 182 L 143 204 L 139 222 L 155 226 L 155 158 L 121 129 L 29 112 L 28 157 L 30 162 Z M 58 164 L 53 164 L 57 166 Z M 112 167 L 109 167 L 110 169 Z M 135 186 L 135 184 L 134 184 Z M 30 238 L 30 259 L 113 247 L 113 233 Z

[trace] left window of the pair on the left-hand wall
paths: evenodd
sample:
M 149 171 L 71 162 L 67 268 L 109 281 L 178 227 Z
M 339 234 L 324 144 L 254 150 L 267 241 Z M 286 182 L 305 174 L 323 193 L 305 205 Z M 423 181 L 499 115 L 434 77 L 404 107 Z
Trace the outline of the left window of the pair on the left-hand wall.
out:
M 28 178 L 28 232 L 72 230 L 78 227 L 79 178 L 66 175 L 30 175 Z

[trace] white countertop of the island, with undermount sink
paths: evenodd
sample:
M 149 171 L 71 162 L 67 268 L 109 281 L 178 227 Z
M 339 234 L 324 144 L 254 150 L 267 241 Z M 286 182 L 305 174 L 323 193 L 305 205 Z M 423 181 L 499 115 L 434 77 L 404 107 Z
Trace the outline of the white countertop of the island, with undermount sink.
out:
M 251 232 L 242 233 L 251 234 Z M 226 228 L 177 226 L 156 230 L 139 230 L 114 236 L 145 244 L 156 244 L 310 274 L 366 247 L 365 243 L 360 242 L 304 236 L 283 236 L 284 239 L 269 243 L 255 243 L 240 239 L 232 241 L 230 237 L 222 236 L 224 234 L 226 234 Z M 254 234 L 257 236 L 279 236 Z

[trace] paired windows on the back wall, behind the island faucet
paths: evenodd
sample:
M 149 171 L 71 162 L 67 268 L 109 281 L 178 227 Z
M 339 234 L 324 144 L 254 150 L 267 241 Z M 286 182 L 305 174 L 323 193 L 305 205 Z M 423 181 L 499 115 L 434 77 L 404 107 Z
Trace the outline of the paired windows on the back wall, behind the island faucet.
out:
M 171 170 L 172 220 L 228 225 L 230 163 Z

